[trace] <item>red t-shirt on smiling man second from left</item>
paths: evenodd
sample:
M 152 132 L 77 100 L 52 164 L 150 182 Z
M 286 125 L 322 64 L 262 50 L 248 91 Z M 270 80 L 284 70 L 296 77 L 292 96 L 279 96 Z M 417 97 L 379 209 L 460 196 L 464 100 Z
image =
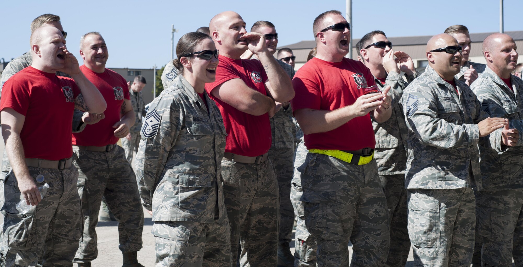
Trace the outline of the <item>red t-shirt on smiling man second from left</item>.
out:
M 119 138 L 115 136 L 116 129 L 112 126 L 120 121 L 123 99 L 131 99 L 127 81 L 115 71 L 107 68 L 104 73 L 96 73 L 82 65 L 80 70 L 100 90 L 107 103 L 107 109 L 104 111 L 105 118 L 100 122 L 86 125 L 81 132 L 73 132 L 73 144 L 96 145 L 97 147 L 116 144 Z

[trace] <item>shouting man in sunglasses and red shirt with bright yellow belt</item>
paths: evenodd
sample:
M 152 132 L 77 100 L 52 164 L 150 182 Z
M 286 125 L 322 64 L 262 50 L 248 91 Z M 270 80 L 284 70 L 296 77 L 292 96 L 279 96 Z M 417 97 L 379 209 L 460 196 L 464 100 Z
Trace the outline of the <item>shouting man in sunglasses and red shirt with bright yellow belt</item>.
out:
M 373 159 L 377 122 L 391 116 L 390 86 L 379 91 L 363 63 L 345 58 L 350 26 L 337 10 L 313 23 L 317 54 L 294 76 L 294 116 L 309 149 L 301 174 L 305 224 L 317 266 L 381 266 L 389 248 L 388 211 Z

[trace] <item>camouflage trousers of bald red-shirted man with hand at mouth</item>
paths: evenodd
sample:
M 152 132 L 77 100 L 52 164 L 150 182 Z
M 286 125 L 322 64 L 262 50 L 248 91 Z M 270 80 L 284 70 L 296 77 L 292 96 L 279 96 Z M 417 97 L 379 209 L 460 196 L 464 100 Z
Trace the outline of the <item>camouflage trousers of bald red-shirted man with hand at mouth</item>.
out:
M 231 223 L 231 267 L 276 266 L 280 201 L 270 159 L 260 164 L 222 160 L 225 207 Z

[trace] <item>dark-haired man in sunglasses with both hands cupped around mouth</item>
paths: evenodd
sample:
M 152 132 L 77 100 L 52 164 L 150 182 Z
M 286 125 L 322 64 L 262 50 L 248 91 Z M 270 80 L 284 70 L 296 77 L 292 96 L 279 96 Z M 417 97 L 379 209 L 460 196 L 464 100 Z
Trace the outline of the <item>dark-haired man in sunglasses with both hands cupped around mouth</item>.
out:
M 391 87 L 392 115 L 379 123 L 371 115 L 376 148 L 374 158 L 385 190 L 390 217 L 390 249 L 384 266 L 405 266 L 411 240 L 407 232 L 407 190 L 405 189 L 406 124 L 400 99 L 403 90 L 419 76 L 412 58 L 402 51 L 393 51 L 392 43 L 383 31 L 365 34 L 356 44 L 356 51 L 363 64 L 374 76 L 376 85 L 383 90 Z M 396 56 L 396 58 L 394 58 Z M 405 72 L 406 82 L 400 75 Z

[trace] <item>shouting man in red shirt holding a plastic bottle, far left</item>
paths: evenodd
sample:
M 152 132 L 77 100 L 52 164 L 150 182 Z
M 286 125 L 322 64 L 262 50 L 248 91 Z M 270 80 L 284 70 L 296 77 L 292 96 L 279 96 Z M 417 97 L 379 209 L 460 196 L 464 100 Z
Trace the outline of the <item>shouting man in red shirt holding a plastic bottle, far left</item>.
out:
M 33 31 L 31 54 L 31 66 L 4 83 L 0 102 L 12 165 L 4 185 L 1 264 L 35 266 L 41 259 L 43 266 L 71 266 L 82 223 L 69 139 L 73 110 L 100 114 L 106 102 L 79 70 L 59 29 Z M 37 181 L 37 175 L 44 180 Z M 41 195 L 44 183 L 50 187 Z

